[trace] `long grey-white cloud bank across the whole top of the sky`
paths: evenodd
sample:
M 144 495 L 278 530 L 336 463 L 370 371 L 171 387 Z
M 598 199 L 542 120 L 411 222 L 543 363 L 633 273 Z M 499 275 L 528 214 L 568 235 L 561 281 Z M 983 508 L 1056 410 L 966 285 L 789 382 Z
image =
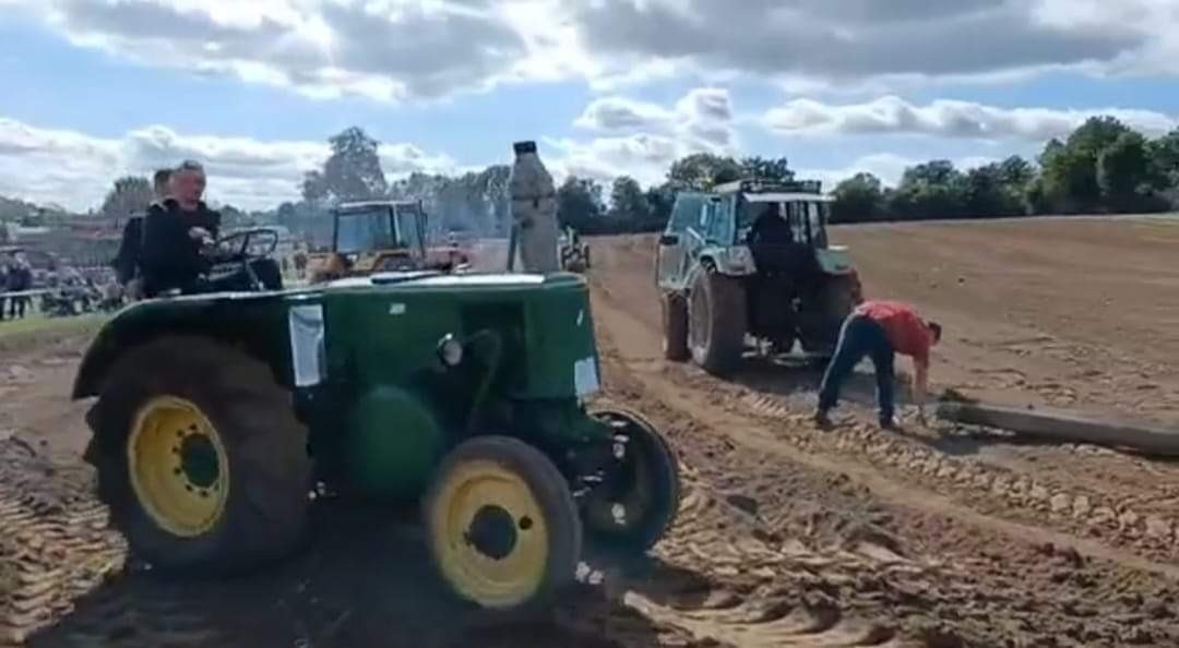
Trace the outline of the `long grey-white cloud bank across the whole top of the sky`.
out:
M 71 42 L 316 98 L 698 73 L 791 87 L 1179 73 L 1173 0 L 4 0 Z M 984 45 L 980 38 L 986 38 Z

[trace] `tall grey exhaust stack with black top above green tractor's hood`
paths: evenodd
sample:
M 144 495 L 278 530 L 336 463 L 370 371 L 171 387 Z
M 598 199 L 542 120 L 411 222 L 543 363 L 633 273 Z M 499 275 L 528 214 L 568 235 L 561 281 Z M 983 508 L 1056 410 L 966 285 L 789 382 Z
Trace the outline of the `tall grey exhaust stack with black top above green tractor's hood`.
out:
M 508 178 L 512 218 L 525 272 L 556 272 L 556 189 L 536 156 L 535 141 L 513 145 L 515 163 Z

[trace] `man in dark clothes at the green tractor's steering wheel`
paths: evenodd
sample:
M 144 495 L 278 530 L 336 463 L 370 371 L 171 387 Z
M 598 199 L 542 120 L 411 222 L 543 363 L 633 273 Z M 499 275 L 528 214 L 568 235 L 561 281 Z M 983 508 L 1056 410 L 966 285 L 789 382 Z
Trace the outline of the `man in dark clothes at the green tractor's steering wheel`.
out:
M 253 290 L 244 267 L 209 278 L 213 260 L 204 251 L 217 240 L 220 213 L 202 200 L 205 171 L 200 163 L 182 164 L 172 172 L 169 187 L 171 196 L 152 204 L 144 219 L 139 258 L 144 295 L 156 297 L 173 290 L 183 295 Z M 274 259 L 249 263 L 266 290 L 282 290 L 282 271 Z

